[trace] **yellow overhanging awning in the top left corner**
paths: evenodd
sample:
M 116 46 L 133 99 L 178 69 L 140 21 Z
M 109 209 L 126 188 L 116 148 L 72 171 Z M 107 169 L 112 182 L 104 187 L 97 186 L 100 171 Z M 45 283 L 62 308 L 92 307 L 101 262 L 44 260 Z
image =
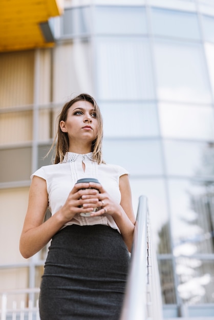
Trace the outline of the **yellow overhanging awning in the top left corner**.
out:
M 0 52 L 52 46 L 40 24 L 62 12 L 59 0 L 0 0 Z

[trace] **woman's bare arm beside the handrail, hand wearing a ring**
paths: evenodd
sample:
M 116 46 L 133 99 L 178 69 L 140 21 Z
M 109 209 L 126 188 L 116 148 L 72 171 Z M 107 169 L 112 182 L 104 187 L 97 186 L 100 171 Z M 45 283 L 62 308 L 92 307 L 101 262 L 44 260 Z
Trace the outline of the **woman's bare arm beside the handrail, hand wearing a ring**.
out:
M 93 187 L 92 182 L 90 182 L 90 186 Z M 92 213 L 91 216 L 99 216 L 104 213 L 110 214 L 114 218 L 121 232 L 123 240 L 131 252 L 136 219 L 132 207 L 132 194 L 129 176 L 127 174 L 120 176 L 120 204 L 113 201 L 109 194 L 102 187 L 96 186 L 96 188 L 99 188 L 99 199 L 104 204 L 102 205 L 101 210 L 97 211 L 96 213 Z M 87 204 L 83 204 L 83 207 L 87 207 Z

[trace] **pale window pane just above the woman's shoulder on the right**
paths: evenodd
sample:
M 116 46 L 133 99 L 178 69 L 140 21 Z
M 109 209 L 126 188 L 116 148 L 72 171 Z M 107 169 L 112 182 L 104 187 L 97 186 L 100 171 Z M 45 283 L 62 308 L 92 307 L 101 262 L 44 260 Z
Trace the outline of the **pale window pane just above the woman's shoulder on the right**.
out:
M 131 175 L 163 173 L 159 141 L 104 139 L 103 151 L 106 163 L 118 164 Z

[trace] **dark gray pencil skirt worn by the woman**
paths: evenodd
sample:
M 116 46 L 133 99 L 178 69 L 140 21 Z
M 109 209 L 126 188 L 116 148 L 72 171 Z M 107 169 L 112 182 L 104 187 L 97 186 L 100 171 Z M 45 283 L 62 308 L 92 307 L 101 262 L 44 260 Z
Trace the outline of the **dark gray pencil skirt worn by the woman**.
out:
M 119 320 L 130 255 L 118 231 L 70 225 L 54 235 L 42 276 L 41 320 Z

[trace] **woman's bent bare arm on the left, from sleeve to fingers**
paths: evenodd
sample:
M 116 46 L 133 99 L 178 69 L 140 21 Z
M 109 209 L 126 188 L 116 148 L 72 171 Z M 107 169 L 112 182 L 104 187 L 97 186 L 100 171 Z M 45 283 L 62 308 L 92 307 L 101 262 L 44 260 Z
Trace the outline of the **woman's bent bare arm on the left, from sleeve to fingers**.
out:
M 66 203 L 51 218 L 44 222 L 46 210 L 48 208 L 48 193 L 46 180 L 38 176 L 32 179 L 29 202 L 23 231 L 20 236 L 19 249 L 24 258 L 30 258 L 42 249 L 57 233 L 60 228 L 70 221 L 75 214 L 93 211 L 98 206 L 98 191 L 94 189 L 79 190 L 89 188 L 89 184 L 75 185 L 71 190 Z M 87 193 L 88 199 L 82 200 L 81 196 Z M 79 208 L 80 205 L 88 203 L 89 209 Z

